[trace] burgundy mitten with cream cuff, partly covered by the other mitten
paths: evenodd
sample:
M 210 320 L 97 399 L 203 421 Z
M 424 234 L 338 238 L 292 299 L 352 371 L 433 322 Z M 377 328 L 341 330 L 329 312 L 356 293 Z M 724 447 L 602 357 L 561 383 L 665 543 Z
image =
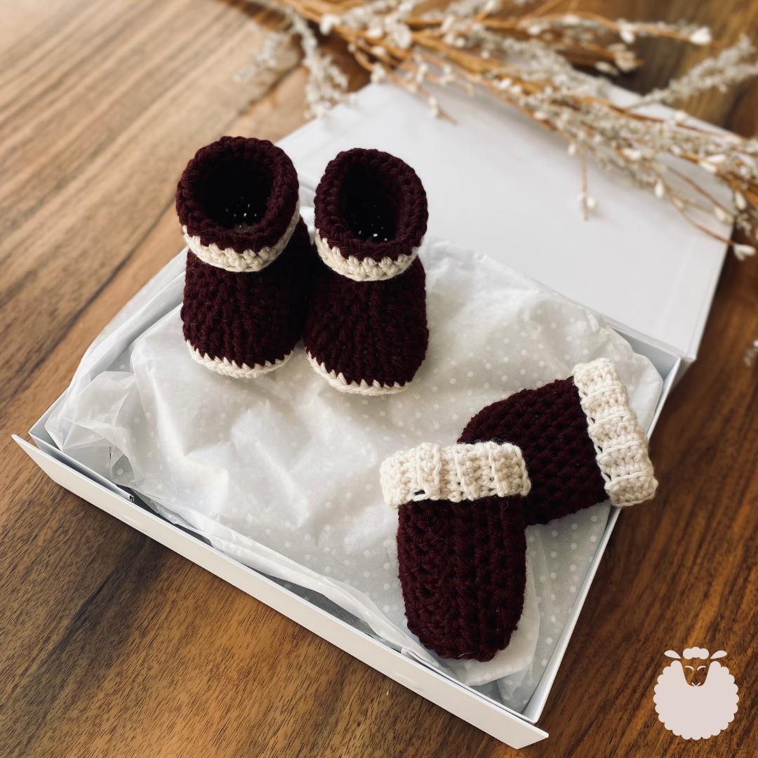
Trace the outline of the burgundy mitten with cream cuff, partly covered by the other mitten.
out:
M 568 379 L 493 402 L 468 422 L 458 441 L 478 440 L 521 449 L 531 481 L 522 500 L 527 525 L 605 500 L 614 506 L 641 503 L 658 484 L 647 435 L 619 372 L 605 358 L 575 366 Z

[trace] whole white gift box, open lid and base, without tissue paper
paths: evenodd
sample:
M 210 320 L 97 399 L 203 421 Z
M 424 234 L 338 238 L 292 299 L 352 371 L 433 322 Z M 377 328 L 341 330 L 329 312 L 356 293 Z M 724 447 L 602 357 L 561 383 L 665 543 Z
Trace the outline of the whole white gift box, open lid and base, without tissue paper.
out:
M 306 197 L 340 149 L 377 147 L 405 158 L 428 190 L 431 234 L 486 252 L 603 313 L 635 352 L 653 362 L 663 389 L 648 428 L 652 431 L 681 366 L 697 351 L 724 247 L 691 230 L 671 208 L 601 174 L 590 174 L 590 182 L 598 188 L 603 211 L 584 223 L 572 184 L 576 167 L 559 140 L 485 99 L 451 96 L 443 106 L 459 125 L 435 121 L 423 103 L 395 87 L 371 86 L 355 106 L 306 125 L 281 145 L 298 168 Z M 45 431 L 54 408 L 30 430 L 36 446 L 15 439 L 58 484 L 506 744 L 523 747 L 547 737 L 536 723 L 618 509 L 612 511 L 540 683 L 518 713 L 408 651 L 387 647 L 333 615 L 318 597 L 306 599 L 139 505 L 126 490 L 55 446 Z

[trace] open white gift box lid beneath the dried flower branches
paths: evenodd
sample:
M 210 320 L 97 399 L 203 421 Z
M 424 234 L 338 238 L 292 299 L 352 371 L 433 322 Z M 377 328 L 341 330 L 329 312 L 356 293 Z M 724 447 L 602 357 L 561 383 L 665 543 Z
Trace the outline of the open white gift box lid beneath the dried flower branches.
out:
M 580 164 L 559 136 L 490 96 L 434 94 L 455 123 L 433 117 L 399 86 L 369 85 L 279 144 L 311 190 L 340 150 L 399 156 L 427 191 L 428 234 L 487 253 L 691 362 L 725 244 L 592 161 L 587 182 L 597 208 L 585 221 Z M 729 236 L 716 219 L 706 223 Z

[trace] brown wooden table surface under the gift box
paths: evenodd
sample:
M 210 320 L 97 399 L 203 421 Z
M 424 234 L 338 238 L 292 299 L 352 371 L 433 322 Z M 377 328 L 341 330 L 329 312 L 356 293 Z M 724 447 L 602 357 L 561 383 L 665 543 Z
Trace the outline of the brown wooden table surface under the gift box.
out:
M 744 0 L 612 0 L 611 17 L 756 38 Z M 53 484 L 11 442 L 183 241 L 174 188 L 222 134 L 302 124 L 305 73 L 235 83 L 277 18 L 232 0 L 0 2 L 0 756 L 510 756 L 283 616 Z M 257 27 L 251 29 L 255 20 Z M 338 54 L 340 51 L 337 51 Z M 625 86 L 703 51 L 643 47 Z M 352 77 L 354 86 L 364 80 Z M 688 109 L 758 133 L 758 86 Z M 652 443 L 656 499 L 616 528 L 527 756 L 758 754 L 758 262 L 729 255 L 700 357 Z M 729 653 L 709 741 L 653 711 L 662 652 Z

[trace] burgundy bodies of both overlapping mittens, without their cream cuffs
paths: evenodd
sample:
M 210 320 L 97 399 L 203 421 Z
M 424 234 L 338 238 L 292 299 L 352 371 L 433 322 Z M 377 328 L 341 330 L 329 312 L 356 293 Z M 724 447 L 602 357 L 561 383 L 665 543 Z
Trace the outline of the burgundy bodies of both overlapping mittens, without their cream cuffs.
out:
M 487 661 L 518 626 L 526 581 L 525 528 L 607 500 L 571 378 L 522 390 L 468 422 L 459 443 L 518 445 L 531 491 L 406 503 L 397 555 L 408 628 L 443 658 Z

